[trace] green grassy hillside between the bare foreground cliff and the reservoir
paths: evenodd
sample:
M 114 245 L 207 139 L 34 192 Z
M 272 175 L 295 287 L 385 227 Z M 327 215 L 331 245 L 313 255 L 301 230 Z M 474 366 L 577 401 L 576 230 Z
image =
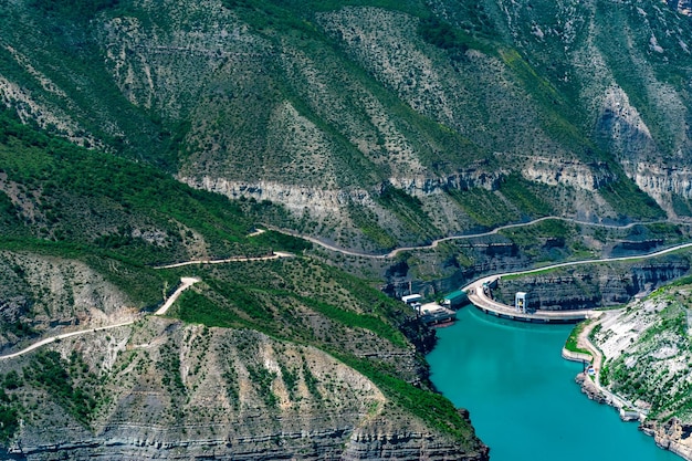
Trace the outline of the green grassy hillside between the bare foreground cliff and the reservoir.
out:
M 317 346 L 370 378 L 402 410 L 443 432 L 471 436 L 445 399 L 420 389 L 429 386 L 420 380 L 426 365 L 406 353 L 405 336 L 418 339 L 420 332 L 400 302 L 310 260 L 230 264 L 197 274 L 203 285 L 185 293 L 171 315 Z

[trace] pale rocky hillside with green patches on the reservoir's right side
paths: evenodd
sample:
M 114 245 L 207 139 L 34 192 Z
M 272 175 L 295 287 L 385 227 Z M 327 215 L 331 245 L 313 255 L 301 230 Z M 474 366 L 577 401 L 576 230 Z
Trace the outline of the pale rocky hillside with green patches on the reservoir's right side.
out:
M 595 398 L 641 415 L 656 442 L 688 459 L 692 453 L 690 277 L 606 314 L 590 338 L 602 354 Z M 631 416 L 630 416 L 631 418 Z

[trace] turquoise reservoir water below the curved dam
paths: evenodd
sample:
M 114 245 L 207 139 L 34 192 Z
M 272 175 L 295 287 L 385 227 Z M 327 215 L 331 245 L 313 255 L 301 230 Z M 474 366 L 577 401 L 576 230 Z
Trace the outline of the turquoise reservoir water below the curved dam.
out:
M 432 381 L 471 412 L 492 461 L 680 461 L 653 438 L 596 404 L 574 381 L 581 364 L 560 357 L 569 325 L 530 325 L 464 307 L 438 329 Z

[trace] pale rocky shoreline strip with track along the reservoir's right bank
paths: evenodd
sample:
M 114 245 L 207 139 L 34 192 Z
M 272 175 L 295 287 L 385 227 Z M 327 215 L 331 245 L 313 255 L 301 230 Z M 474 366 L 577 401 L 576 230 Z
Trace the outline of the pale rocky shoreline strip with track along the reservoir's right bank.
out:
M 688 432 L 686 427 L 678 418 L 671 418 L 663 425 L 648 421 L 648 410 L 646 408 L 637 406 L 635 402 L 610 391 L 600 381 L 601 367 L 606 357 L 604 357 L 601 350 L 591 342 L 589 336 L 597 325 L 602 325 L 606 321 L 616 321 L 615 317 L 621 312 L 622 310 L 609 311 L 581 329 L 577 345 L 579 348 L 588 350 L 593 356 L 593 359 L 591 357 L 588 358 L 591 359 L 594 374 L 589 375 L 586 371 L 581 371 L 576 376 L 575 380 L 589 399 L 616 408 L 622 421 L 639 421 L 639 429 L 647 436 L 653 437 L 658 447 L 669 450 L 686 461 L 692 461 L 692 437 L 690 437 L 690 433 L 686 433 L 685 437 L 685 432 Z M 564 347 L 562 355 L 563 358 L 574 362 L 583 362 L 587 357 L 586 354 L 567 350 Z

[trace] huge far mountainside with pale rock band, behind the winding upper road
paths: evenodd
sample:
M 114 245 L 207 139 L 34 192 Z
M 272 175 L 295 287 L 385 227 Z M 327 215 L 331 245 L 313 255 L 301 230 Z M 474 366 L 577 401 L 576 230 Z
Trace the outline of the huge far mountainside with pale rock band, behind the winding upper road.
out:
M 651 1 L 19 1 L 0 94 L 381 251 L 544 214 L 689 216 L 689 21 Z

